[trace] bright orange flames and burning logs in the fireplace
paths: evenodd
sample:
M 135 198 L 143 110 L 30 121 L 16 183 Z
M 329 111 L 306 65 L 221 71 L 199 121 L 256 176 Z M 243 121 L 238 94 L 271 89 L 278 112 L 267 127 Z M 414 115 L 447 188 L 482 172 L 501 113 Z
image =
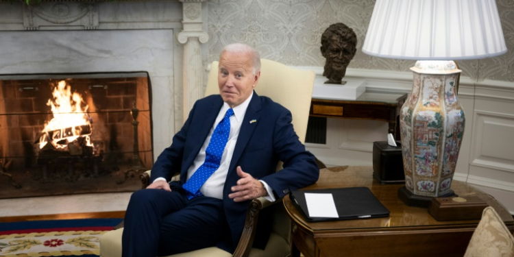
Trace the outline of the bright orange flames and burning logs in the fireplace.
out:
M 45 123 L 39 138 L 40 149 L 47 143 L 51 143 L 51 148 L 64 149 L 79 137 L 84 138 L 84 145 L 93 147 L 89 138 L 92 127 L 87 114 L 88 105 L 82 107 L 82 96 L 71 93 L 71 86 L 64 80 L 53 88 L 52 95 L 53 99 L 48 99 L 47 106 L 51 106 L 53 119 Z

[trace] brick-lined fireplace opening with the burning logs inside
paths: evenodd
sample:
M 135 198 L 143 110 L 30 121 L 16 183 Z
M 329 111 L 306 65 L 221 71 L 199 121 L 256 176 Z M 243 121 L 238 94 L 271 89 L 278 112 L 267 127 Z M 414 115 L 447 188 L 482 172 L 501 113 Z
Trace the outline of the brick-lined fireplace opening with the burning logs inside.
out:
M 136 190 L 153 162 L 150 85 L 145 72 L 1 75 L 0 198 Z

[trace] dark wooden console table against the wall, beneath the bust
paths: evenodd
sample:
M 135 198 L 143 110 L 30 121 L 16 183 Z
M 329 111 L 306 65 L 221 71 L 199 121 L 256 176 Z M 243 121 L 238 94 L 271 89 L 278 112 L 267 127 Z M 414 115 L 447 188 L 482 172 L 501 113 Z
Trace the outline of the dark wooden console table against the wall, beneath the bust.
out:
M 388 133 L 400 140 L 397 119 L 406 93 L 367 91 L 356 100 L 316 99 L 310 101 L 309 116 L 343 119 L 371 119 L 389 123 Z

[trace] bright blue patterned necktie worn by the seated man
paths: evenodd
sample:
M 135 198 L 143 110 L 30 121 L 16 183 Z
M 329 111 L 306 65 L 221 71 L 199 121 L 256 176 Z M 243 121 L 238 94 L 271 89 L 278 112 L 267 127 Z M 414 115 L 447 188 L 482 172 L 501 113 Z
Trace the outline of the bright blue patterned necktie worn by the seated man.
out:
M 221 156 L 223 155 L 223 150 L 225 149 L 225 145 L 227 145 L 228 135 L 230 134 L 230 117 L 233 114 L 234 110 L 230 108 L 225 113 L 225 117 L 219 121 L 210 137 L 204 164 L 201 164 L 191 178 L 182 185 L 182 188 L 188 193 L 188 199 L 201 195 L 201 186 L 207 181 L 210 175 L 219 168 Z

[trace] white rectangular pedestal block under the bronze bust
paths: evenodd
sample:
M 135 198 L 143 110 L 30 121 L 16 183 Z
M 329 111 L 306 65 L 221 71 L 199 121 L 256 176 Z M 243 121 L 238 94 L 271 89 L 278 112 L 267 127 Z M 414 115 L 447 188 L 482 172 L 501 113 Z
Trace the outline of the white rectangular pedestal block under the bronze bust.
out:
M 328 79 L 316 76 L 314 79 L 313 98 L 328 100 L 355 100 L 366 90 L 366 83 L 363 79 L 346 79 L 346 84 L 323 84 Z

